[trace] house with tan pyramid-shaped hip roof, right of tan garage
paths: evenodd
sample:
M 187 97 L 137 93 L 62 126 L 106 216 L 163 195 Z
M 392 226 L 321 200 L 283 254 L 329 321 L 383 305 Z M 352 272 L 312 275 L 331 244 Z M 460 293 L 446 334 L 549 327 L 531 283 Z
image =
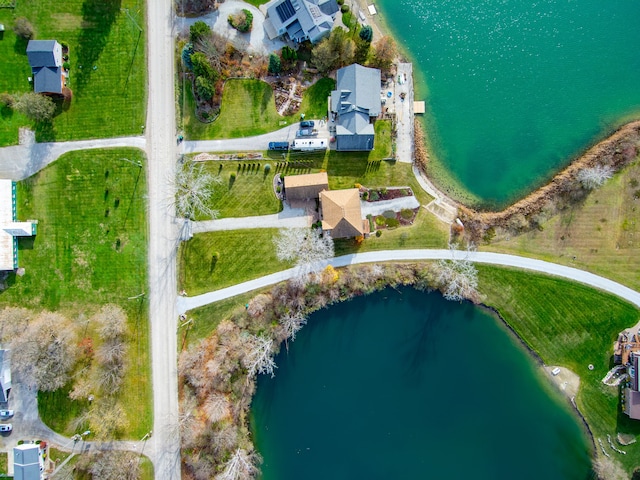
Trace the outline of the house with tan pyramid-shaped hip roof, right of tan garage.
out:
M 322 230 L 332 238 L 349 238 L 369 233 L 369 221 L 362 219 L 360 191 L 325 190 L 320 192 Z

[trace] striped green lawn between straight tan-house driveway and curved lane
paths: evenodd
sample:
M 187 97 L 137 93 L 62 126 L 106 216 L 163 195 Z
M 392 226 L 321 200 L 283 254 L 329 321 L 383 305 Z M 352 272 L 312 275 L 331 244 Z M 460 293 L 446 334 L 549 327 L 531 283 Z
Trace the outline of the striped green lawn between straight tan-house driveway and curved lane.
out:
M 272 228 L 208 232 L 183 242 L 179 250 L 179 288 L 198 295 L 292 265 L 276 258 Z

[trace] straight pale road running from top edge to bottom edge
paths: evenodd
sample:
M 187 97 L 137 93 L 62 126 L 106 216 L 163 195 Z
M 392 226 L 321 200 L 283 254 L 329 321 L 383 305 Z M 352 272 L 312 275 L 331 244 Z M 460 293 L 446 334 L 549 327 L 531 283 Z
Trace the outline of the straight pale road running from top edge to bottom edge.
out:
M 172 0 L 147 9 L 147 156 L 149 185 L 149 318 L 153 380 L 155 478 L 180 478 L 178 432 L 176 252 L 173 198 L 177 158 Z

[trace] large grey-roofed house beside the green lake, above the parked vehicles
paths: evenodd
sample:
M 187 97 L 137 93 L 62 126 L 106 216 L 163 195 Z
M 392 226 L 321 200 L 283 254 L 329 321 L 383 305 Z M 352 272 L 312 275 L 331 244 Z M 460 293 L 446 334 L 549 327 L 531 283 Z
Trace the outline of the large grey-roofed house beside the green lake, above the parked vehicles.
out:
M 380 70 L 354 63 L 338 70 L 331 92 L 331 119 L 335 122 L 336 150 L 373 150 L 373 121 L 382 111 Z

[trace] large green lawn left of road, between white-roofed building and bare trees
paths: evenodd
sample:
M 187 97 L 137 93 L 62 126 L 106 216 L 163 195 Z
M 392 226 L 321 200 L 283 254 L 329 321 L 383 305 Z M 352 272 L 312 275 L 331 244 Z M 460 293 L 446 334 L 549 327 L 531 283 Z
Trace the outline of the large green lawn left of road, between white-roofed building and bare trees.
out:
M 144 435 L 152 425 L 147 290 L 145 163 L 134 149 L 72 152 L 18 184 L 18 217 L 38 219 L 34 238 L 21 239 L 22 277 L 12 274 L 0 292 L 0 307 L 60 311 L 95 336 L 87 322 L 99 307 L 116 303 L 129 321 L 128 370 L 120 394 L 130 427 L 125 436 Z M 45 422 L 67 434 L 82 402 L 67 392 L 40 394 Z

